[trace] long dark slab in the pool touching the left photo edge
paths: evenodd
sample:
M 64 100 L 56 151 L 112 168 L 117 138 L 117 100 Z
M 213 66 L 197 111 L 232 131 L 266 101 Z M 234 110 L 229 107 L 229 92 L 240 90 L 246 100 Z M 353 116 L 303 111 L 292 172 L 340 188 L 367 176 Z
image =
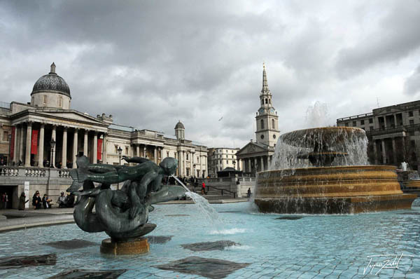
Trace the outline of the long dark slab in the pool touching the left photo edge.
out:
M 36 256 L 18 256 L 0 258 L 0 269 L 22 268 L 27 266 L 55 266 L 56 254 L 42 254 Z

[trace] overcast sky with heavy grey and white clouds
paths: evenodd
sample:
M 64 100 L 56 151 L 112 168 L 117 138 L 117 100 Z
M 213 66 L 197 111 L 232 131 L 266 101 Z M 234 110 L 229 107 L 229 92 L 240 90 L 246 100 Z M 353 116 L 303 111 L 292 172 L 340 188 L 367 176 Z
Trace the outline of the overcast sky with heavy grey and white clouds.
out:
M 281 132 L 307 127 L 315 102 L 332 125 L 419 100 L 419 26 L 419 0 L 0 0 L 0 101 L 29 102 L 54 61 L 72 109 L 242 147 L 263 61 Z

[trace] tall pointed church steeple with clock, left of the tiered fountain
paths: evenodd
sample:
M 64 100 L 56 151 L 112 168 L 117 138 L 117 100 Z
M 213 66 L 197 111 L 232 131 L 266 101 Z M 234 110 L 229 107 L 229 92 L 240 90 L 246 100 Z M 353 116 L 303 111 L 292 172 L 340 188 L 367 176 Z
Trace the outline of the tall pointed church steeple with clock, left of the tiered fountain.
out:
M 262 64 L 262 89 L 260 94 L 260 109 L 257 116 L 257 130 L 255 132 L 256 141 L 259 144 L 265 144 L 274 147 L 279 138 L 279 116 L 272 106 L 272 94 L 269 92 L 267 83 L 267 74 L 265 73 L 265 64 Z

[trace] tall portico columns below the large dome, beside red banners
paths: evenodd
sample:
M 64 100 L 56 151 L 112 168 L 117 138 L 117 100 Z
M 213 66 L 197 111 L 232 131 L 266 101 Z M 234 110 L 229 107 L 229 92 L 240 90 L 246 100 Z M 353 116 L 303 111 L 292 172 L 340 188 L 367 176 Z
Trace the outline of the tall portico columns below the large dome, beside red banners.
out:
M 17 163 L 17 159 L 19 161 L 25 162 L 25 167 L 31 166 L 31 140 L 32 140 L 32 122 L 26 123 L 26 142 L 25 142 L 25 161 L 23 158 L 23 149 L 24 149 L 24 139 L 25 139 L 25 126 L 21 125 L 21 128 L 18 129 L 16 126 L 15 128 L 15 142 L 13 142 L 15 147 L 15 154 L 13 154 L 13 161 Z M 76 168 L 76 156 L 78 155 L 78 132 L 80 129 L 75 128 L 73 131 L 73 156 L 72 156 L 72 163 L 73 168 Z M 63 127 L 63 135 L 62 135 L 62 167 L 66 168 L 66 161 L 67 161 L 67 134 L 68 128 Z M 87 147 L 88 147 L 88 133 L 90 130 L 84 130 L 84 137 L 83 137 L 83 154 L 87 155 Z M 57 142 L 57 125 L 52 125 L 51 130 L 51 140 L 55 140 Z M 92 163 L 97 162 L 97 142 L 98 142 L 98 132 L 94 131 L 93 136 L 93 154 L 92 154 Z M 44 143 L 45 143 L 45 124 L 41 123 L 39 134 L 38 134 L 38 166 L 43 166 L 44 160 Z M 19 148 L 16 148 L 19 144 Z M 104 134 L 104 144 L 103 144 L 103 157 L 106 158 L 106 134 Z M 50 154 L 50 165 L 55 166 L 56 161 L 56 152 L 57 145 L 54 149 L 52 149 L 52 153 Z M 18 153 L 18 154 L 17 154 Z

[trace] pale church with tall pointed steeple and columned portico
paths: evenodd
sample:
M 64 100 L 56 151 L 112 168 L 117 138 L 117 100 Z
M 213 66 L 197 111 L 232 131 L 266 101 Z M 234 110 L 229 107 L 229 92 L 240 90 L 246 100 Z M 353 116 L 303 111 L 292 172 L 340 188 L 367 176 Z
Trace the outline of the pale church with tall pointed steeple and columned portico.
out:
M 255 116 L 256 141 L 251 140 L 237 152 L 237 159 L 243 165 L 245 173 L 255 175 L 256 172 L 269 170 L 279 139 L 279 116 L 272 106 L 272 93 L 268 89 L 265 65 L 262 69 L 262 89 L 260 93 L 260 109 Z

